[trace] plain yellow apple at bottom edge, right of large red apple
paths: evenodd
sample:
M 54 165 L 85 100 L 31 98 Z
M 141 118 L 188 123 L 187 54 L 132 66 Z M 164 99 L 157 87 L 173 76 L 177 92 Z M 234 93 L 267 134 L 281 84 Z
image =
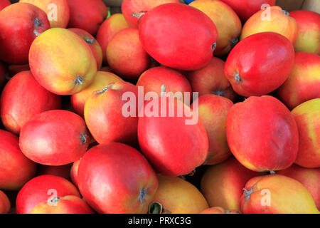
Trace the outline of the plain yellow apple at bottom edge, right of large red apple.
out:
M 149 204 L 150 214 L 198 214 L 208 208 L 199 190 L 180 177 L 158 175 L 159 188 Z

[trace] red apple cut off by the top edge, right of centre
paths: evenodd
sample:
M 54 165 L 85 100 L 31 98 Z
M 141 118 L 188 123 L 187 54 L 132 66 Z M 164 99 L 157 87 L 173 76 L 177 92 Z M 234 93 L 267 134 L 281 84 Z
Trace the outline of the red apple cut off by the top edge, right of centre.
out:
M 206 0 L 203 0 L 206 1 Z M 238 14 L 242 22 L 261 10 L 262 4 L 274 6 L 275 0 L 221 0 L 228 4 Z

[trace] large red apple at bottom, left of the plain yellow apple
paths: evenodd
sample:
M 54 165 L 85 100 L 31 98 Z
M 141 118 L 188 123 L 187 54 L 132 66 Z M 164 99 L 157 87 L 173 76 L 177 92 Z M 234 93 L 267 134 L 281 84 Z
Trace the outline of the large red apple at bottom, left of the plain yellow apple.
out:
M 110 142 L 92 147 L 82 157 L 78 185 L 86 202 L 99 213 L 145 214 L 158 179 L 139 151 Z

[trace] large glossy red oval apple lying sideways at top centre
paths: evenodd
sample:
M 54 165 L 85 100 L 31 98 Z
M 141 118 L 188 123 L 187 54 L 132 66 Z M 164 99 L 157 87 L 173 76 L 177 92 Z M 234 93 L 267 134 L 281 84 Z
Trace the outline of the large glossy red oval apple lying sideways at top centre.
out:
M 190 34 L 194 34 L 192 39 L 187 38 Z M 146 52 L 162 65 L 182 71 L 205 67 L 217 36 L 213 21 L 185 4 L 156 6 L 139 19 L 139 37 Z

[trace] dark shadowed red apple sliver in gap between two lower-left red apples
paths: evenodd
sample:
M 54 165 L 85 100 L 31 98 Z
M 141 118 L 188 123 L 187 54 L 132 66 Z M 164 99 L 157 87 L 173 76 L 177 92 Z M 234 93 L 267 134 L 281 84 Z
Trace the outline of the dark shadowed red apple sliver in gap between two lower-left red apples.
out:
M 70 180 L 71 164 L 67 165 L 38 165 L 37 176 L 40 175 L 55 175 Z

